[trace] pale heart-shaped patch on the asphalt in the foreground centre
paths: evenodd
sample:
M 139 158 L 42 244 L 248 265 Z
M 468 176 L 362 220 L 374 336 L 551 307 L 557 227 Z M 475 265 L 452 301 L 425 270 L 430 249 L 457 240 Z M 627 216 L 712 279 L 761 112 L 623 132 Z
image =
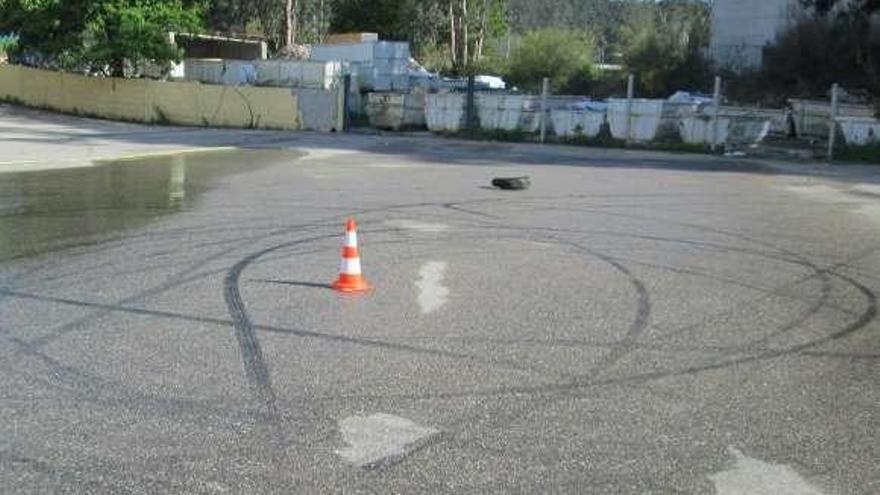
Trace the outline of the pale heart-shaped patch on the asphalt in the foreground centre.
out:
M 339 431 L 350 447 L 336 453 L 347 462 L 364 468 L 399 460 L 440 433 L 434 428 L 384 413 L 345 418 L 339 422 Z

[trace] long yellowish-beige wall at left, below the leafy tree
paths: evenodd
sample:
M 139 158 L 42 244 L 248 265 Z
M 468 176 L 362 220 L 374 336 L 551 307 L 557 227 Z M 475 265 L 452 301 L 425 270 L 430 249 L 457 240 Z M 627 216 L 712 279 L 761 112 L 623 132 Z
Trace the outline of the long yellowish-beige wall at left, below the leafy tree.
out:
M 143 123 L 301 128 L 297 98 L 286 88 L 97 78 L 0 65 L 0 98 L 32 107 Z

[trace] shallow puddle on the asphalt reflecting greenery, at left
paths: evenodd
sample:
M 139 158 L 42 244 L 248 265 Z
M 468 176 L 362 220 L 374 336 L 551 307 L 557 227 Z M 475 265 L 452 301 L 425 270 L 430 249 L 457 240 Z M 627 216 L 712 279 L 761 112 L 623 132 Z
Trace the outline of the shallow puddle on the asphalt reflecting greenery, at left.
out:
M 225 150 L 0 174 L 0 261 L 142 227 L 192 206 L 223 177 L 301 156 Z

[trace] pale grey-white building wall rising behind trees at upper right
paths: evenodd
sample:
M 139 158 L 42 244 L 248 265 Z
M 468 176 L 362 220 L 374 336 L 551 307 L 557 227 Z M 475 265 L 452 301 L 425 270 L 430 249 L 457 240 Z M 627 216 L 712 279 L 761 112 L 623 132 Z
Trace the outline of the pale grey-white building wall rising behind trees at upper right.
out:
M 757 69 L 764 47 L 792 25 L 798 0 L 715 0 L 709 53 L 720 67 Z

